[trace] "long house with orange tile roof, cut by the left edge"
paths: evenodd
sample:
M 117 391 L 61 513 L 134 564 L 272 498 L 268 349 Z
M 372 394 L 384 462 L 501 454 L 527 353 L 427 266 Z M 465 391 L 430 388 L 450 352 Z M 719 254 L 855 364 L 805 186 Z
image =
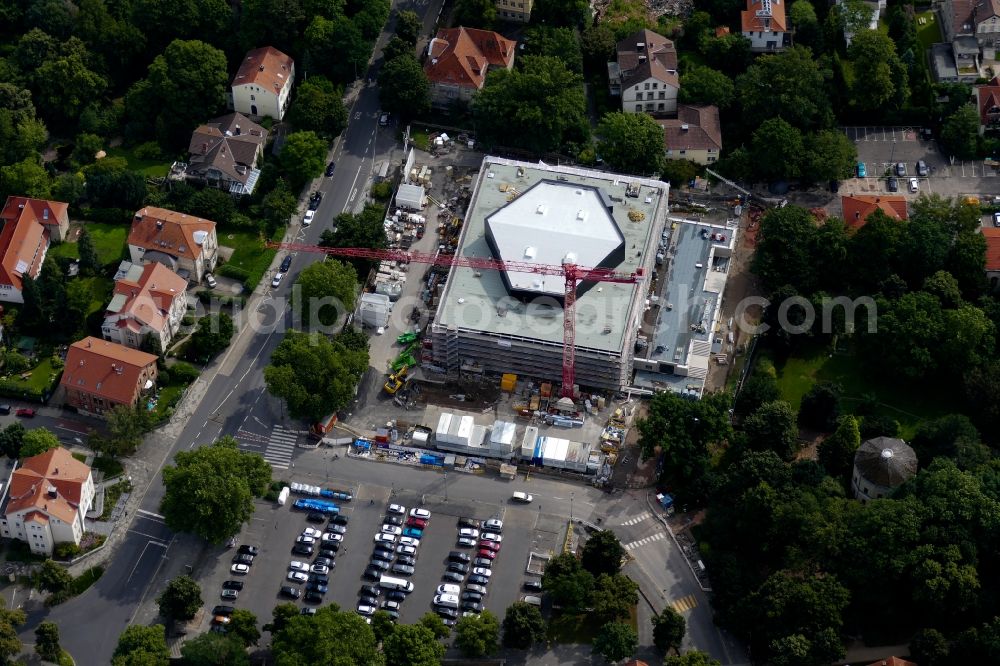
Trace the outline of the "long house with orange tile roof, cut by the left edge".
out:
M 23 303 L 22 278 L 38 277 L 50 240 L 69 231 L 69 205 L 9 196 L 0 211 L 0 301 Z

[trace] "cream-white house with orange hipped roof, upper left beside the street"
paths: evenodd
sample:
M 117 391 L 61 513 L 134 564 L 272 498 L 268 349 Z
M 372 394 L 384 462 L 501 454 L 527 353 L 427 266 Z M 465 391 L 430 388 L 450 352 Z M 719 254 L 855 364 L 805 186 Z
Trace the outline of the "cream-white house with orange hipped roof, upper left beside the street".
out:
M 285 117 L 295 82 L 295 61 L 273 46 L 249 51 L 233 78 L 230 108 L 245 116 Z

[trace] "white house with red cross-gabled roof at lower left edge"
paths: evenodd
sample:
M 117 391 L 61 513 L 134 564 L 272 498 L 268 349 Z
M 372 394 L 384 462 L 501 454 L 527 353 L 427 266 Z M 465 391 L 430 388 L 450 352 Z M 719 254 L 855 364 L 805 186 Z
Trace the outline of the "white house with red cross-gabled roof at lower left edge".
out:
M 0 535 L 51 557 L 56 544 L 80 545 L 93 502 L 90 468 L 62 447 L 50 449 L 25 458 L 11 474 L 0 504 Z

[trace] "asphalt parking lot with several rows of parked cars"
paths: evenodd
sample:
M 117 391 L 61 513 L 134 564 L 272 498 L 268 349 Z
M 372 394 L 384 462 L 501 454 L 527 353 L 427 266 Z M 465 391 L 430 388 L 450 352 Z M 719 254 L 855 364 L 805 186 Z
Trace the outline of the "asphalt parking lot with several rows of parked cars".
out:
M 507 606 L 525 594 L 522 589 L 523 582 L 528 578 L 534 578 L 525 574 L 529 551 L 548 553 L 555 550 L 565 534 L 565 518 L 543 514 L 540 506 L 532 504 L 513 503 L 509 500 L 484 504 L 474 499 L 464 500 L 457 497 L 446 500 L 439 495 L 397 491 L 393 487 L 385 488 L 369 484 L 352 487 L 334 481 L 327 487 L 348 490 L 354 494 L 354 500 L 351 502 L 336 502 L 343 515 L 348 518 L 347 532 L 339 545 L 334 560 L 335 567 L 329 573 L 329 591 L 323 601 L 324 604 L 336 603 L 345 610 L 357 608 L 362 585 L 378 585 L 376 581 L 364 580 L 363 573 L 372 559 L 374 536 L 385 522 L 388 504 L 401 504 L 406 507 L 407 512 L 414 507 L 431 511 L 431 518 L 417 547 L 414 573 L 410 576 L 400 576 L 391 571 L 386 572 L 393 577 L 407 578 L 414 584 L 413 593 L 408 595 L 399 609 L 399 621 L 403 623 L 416 622 L 424 613 L 433 610 L 433 598 L 438 585 L 450 582 L 442 581 L 442 574 L 448 567 L 449 552 L 461 550 L 471 559 L 476 558 L 479 550 L 478 539 L 476 547 L 457 546 L 459 518 L 485 521 L 500 517 L 503 520 L 501 549 L 493 560 L 492 575 L 486 586 L 487 594 L 483 599 L 484 607 L 500 616 Z M 231 560 L 237 554 L 237 548 L 228 549 L 219 557 L 219 561 L 211 568 L 210 575 L 199 581 L 208 608 L 217 604 L 245 608 L 255 613 L 263 624 L 270 620 L 271 610 L 279 603 L 291 602 L 303 608 L 316 606 L 304 600 L 305 584 L 286 579 L 290 561 L 298 560 L 311 564 L 319 555 L 319 543 L 314 547 L 312 557 L 293 554 L 292 548 L 296 538 L 307 527 L 318 529 L 324 527 L 321 524 L 308 522 L 306 519 L 308 512 L 293 509 L 291 505 L 295 499 L 296 496 L 293 495 L 284 507 L 258 503 L 250 525 L 239 536 L 239 544 L 256 546 L 260 552 L 250 566 L 249 573 L 243 576 L 233 575 L 230 572 Z M 396 544 L 393 544 L 393 550 L 398 544 L 397 539 Z M 393 562 L 395 563 L 395 558 Z M 472 565 L 469 567 L 470 571 L 471 569 Z M 467 579 L 467 576 L 465 578 Z M 227 601 L 220 597 L 222 584 L 226 580 L 244 582 L 236 600 Z M 280 593 L 282 586 L 301 589 L 302 597 L 289 599 L 283 596 Z M 378 597 L 378 601 L 381 603 L 385 598 L 386 594 L 383 593 Z M 207 629 L 210 619 L 206 615 L 206 626 L 203 628 Z

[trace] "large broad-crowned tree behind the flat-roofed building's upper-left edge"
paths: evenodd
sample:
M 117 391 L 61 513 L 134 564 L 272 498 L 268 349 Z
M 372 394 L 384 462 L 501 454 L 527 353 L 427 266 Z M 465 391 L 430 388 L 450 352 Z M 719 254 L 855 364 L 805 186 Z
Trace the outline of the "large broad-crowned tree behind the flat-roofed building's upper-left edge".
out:
M 555 58 L 527 56 L 486 77 L 472 100 L 479 139 L 542 153 L 589 139 L 583 77 Z

